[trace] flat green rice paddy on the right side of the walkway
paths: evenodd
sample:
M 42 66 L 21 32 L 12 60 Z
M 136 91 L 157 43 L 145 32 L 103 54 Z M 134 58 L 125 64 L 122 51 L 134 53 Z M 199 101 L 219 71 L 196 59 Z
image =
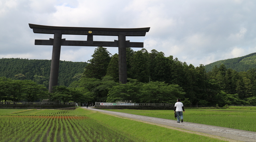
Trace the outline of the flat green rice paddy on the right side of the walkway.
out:
M 110 111 L 176 120 L 174 118 L 173 110 L 112 109 Z M 185 109 L 183 116 L 185 122 L 256 132 L 256 107 L 230 107 L 229 109 Z

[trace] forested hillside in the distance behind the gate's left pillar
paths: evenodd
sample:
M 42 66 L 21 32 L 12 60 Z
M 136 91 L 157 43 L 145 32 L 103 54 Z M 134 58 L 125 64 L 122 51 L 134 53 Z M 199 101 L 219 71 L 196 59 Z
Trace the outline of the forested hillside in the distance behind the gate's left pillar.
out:
M 60 61 L 58 85 L 68 86 L 84 72 L 86 62 Z M 51 60 L 2 58 L 0 59 L 0 77 L 34 80 L 46 85 L 50 79 Z

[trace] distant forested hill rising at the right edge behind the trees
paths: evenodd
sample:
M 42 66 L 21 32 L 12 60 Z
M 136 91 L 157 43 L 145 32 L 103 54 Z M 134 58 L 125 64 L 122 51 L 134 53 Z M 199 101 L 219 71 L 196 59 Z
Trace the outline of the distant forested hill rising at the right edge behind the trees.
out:
M 214 63 L 205 65 L 205 69 L 208 72 L 211 71 L 215 65 L 220 67 L 222 64 L 224 64 L 227 69 L 230 68 L 237 72 L 248 71 L 250 68 L 256 68 L 256 53 L 251 53 L 242 57 L 216 61 Z

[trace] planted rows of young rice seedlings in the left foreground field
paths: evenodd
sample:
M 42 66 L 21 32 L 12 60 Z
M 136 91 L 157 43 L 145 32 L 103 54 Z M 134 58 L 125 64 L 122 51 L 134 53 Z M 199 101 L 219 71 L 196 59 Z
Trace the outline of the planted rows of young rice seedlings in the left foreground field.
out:
M 4 116 L 0 139 L 10 142 L 122 141 L 124 136 L 85 116 Z M 5 127 L 2 124 L 7 123 Z M 15 127 L 16 126 L 16 127 Z M 11 128 L 9 131 L 7 128 Z

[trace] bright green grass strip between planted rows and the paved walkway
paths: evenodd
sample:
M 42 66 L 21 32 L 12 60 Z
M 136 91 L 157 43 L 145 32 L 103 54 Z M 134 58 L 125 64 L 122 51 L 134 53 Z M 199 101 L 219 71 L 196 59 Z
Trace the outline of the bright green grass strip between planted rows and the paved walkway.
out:
M 91 110 L 86 110 L 91 111 Z M 137 138 L 138 141 L 146 142 L 226 142 L 208 136 L 201 136 L 180 130 L 172 130 L 157 125 L 138 122 L 135 120 L 119 118 L 100 112 L 87 114 L 88 117 L 97 120 L 105 126 L 114 128 L 119 132 L 130 134 L 130 136 Z

